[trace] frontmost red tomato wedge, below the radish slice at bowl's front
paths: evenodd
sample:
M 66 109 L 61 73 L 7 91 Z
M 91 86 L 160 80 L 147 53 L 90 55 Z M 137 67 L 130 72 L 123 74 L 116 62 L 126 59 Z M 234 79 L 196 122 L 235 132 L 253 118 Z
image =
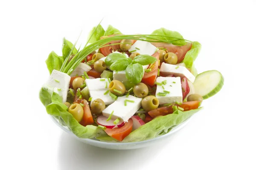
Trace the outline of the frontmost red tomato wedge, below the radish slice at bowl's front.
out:
M 124 126 L 119 128 L 106 129 L 105 132 L 112 138 L 122 141 L 123 139 L 125 139 L 126 136 L 128 136 L 131 133 L 132 125 L 132 119 L 129 119 Z

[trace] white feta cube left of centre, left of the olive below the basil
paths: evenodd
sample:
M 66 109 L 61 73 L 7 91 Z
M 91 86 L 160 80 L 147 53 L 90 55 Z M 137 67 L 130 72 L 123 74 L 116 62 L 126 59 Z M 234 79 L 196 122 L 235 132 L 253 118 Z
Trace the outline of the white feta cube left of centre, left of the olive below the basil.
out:
M 98 78 L 98 79 L 85 79 L 85 83 L 88 87 L 90 97 L 92 98 L 91 103 L 95 99 L 102 99 L 105 105 L 112 104 L 115 100 L 112 99 L 108 94 L 104 94 L 109 90 L 109 81 L 108 79 Z M 106 88 L 107 87 L 107 88 Z

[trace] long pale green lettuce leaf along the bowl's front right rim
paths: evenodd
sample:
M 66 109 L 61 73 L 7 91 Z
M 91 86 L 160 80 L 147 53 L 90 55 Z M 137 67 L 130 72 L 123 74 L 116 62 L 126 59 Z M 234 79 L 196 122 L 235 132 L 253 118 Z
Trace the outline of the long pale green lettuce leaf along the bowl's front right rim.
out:
M 154 119 L 131 132 L 122 142 L 139 142 L 163 135 L 169 132 L 170 128 L 179 125 L 200 110 L 201 108 L 184 112 L 177 110 L 172 114 Z

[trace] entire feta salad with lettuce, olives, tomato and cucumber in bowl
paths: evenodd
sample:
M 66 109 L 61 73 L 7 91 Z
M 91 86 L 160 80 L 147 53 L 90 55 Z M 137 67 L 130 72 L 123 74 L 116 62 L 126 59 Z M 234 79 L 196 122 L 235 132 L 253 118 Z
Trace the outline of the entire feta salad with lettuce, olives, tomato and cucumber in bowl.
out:
M 99 24 L 83 49 L 64 38 L 46 60 L 39 98 L 58 123 L 81 139 L 140 142 L 169 133 L 221 90 L 219 71 L 197 73 L 199 42 L 160 28 L 124 35 Z

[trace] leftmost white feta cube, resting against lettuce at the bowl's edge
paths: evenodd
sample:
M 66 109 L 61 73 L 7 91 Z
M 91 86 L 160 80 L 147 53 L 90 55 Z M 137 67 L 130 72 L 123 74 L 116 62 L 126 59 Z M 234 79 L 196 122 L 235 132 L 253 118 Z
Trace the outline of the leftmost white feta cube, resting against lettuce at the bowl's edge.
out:
M 52 95 L 53 91 L 59 94 L 62 98 L 62 102 L 67 101 L 67 92 L 70 85 L 71 77 L 66 73 L 62 73 L 57 70 L 53 70 L 51 76 L 43 86 Z

